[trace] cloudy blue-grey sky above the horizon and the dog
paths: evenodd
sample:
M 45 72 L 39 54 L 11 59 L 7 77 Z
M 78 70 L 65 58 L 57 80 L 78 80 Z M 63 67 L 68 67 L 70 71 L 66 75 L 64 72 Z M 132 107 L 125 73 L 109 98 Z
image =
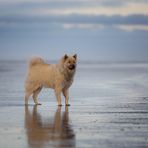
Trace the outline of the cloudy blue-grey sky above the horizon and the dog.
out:
M 0 0 L 0 59 L 148 61 L 148 0 Z

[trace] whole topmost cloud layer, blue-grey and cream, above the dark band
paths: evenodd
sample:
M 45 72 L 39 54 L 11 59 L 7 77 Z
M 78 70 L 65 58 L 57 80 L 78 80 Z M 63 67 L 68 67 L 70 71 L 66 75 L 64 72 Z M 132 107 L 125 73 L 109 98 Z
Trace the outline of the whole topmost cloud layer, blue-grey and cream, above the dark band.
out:
M 148 15 L 148 1 L 145 0 L 0 0 L 0 7 L 1 16 Z

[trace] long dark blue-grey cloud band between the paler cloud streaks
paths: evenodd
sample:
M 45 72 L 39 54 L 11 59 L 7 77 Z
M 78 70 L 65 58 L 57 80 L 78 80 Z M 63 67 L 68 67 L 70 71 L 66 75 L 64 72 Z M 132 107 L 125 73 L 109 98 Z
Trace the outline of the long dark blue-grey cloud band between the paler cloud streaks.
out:
M 102 24 L 102 25 L 148 25 L 148 15 L 105 16 L 105 15 L 53 15 L 53 16 L 7 16 L 0 17 L 5 23 L 67 23 L 67 24 Z

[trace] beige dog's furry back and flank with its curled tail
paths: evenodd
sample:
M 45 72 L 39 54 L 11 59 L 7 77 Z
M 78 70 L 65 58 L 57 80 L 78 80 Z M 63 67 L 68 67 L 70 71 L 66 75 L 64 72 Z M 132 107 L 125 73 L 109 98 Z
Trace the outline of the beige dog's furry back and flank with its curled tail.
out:
M 37 87 L 53 88 L 55 77 L 58 76 L 55 64 L 47 64 L 41 58 L 33 58 L 29 62 L 25 90 L 33 92 Z

